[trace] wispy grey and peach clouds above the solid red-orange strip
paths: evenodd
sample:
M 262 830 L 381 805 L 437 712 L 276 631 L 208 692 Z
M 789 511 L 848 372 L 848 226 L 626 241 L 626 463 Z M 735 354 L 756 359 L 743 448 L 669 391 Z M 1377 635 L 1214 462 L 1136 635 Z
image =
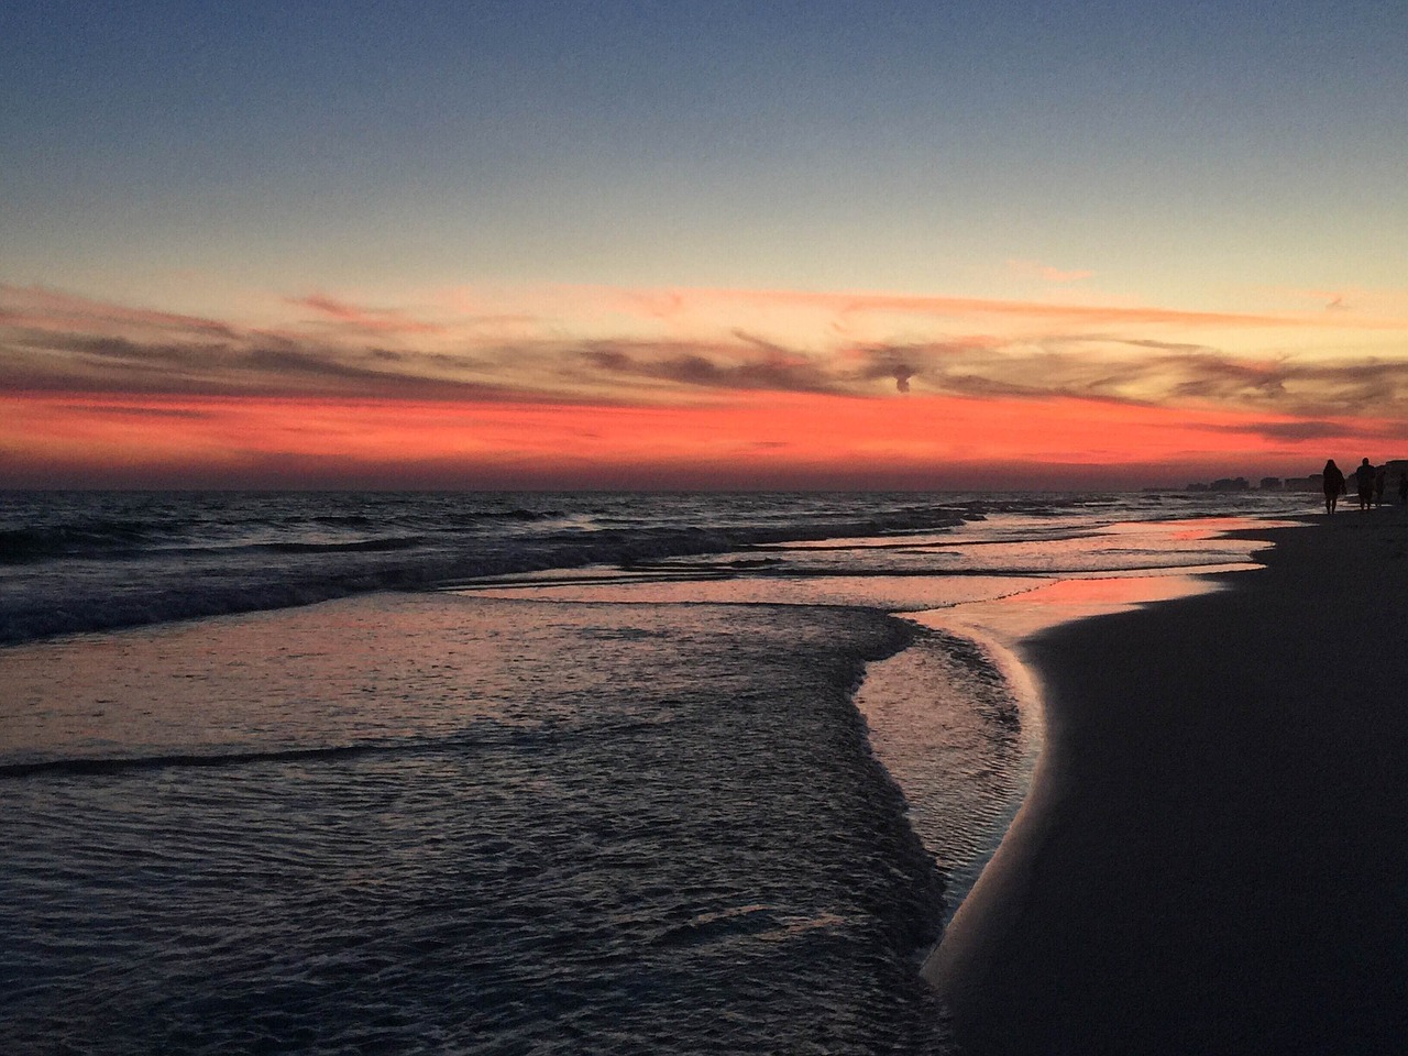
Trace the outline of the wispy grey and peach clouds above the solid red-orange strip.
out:
M 1278 427 L 1286 439 L 1328 435 L 1316 429 L 1366 414 L 1408 420 L 1408 341 L 1404 353 L 1378 356 L 1280 348 L 1304 317 L 808 291 L 612 291 L 608 300 L 583 334 L 572 332 L 572 306 L 555 317 L 546 303 L 541 315 L 501 306 L 505 318 L 532 320 L 504 337 L 480 327 L 480 311 L 455 324 L 328 294 L 289 301 L 314 313 L 301 327 L 252 328 L 0 286 L 0 387 L 618 406 L 731 393 L 1077 398 L 1305 420 Z M 788 331 L 773 308 L 852 322 Z M 887 315 L 895 311 L 903 322 Z M 698 318 L 653 329 L 681 315 Z M 1005 329 L 1011 318 L 1022 325 Z M 1277 342 L 1267 351 L 1218 346 L 1219 334 L 1260 327 Z

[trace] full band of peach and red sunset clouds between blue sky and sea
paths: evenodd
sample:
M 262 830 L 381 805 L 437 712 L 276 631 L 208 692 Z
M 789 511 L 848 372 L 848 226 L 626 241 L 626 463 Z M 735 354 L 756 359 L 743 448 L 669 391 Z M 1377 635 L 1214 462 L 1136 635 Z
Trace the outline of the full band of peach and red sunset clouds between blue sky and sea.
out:
M 1014 460 L 1112 480 L 1408 442 L 1408 325 L 1385 313 L 586 287 L 269 306 L 256 324 L 0 286 L 0 483 L 418 466 L 441 486 L 459 465 L 494 486 L 857 466 L 918 486 Z

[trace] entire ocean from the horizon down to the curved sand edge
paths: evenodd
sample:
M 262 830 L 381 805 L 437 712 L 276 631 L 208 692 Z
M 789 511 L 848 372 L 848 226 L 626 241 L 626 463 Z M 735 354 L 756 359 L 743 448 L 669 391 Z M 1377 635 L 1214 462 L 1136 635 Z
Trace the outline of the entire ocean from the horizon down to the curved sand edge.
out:
M 0 1050 L 946 1052 L 948 614 L 1314 496 L 0 494 Z

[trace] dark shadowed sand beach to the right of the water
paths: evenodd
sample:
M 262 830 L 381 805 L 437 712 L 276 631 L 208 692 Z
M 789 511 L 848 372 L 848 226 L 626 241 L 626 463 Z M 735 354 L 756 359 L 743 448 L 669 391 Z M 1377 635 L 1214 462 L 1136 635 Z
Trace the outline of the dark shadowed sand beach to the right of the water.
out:
M 1025 642 L 1032 791 L 925 974 L 987 1053 L 1408 1052 L 1408 522 Z

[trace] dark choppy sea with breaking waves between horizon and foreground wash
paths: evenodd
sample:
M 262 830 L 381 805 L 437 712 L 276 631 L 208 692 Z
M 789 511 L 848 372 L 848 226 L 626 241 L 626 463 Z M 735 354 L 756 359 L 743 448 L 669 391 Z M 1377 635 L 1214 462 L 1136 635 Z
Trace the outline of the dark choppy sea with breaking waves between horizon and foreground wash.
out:
M 0 645 L 700 555 L 798 565 L 798 549 L 812 546 L 814 567 L 848 573 L 860 567 L 860 539 L 879 546 L 867 573 L 932 573 L 956 559 L 938 545 L 949 538 L 1005 545 L 1007 572 L 1024 559 L 1052 570 L 1050 548 L 1033 541 L 1079 541 L 1119 521 L 1304 507 L 1297 496 L 1259 493 L 0 491 Z M 845 541 L 839 551 L 835 541 Z M 769 553 L 774 546 L 783 553 Z M 964 572 L 995 567 L 998 553 L 976 563 L 969 555 Z

